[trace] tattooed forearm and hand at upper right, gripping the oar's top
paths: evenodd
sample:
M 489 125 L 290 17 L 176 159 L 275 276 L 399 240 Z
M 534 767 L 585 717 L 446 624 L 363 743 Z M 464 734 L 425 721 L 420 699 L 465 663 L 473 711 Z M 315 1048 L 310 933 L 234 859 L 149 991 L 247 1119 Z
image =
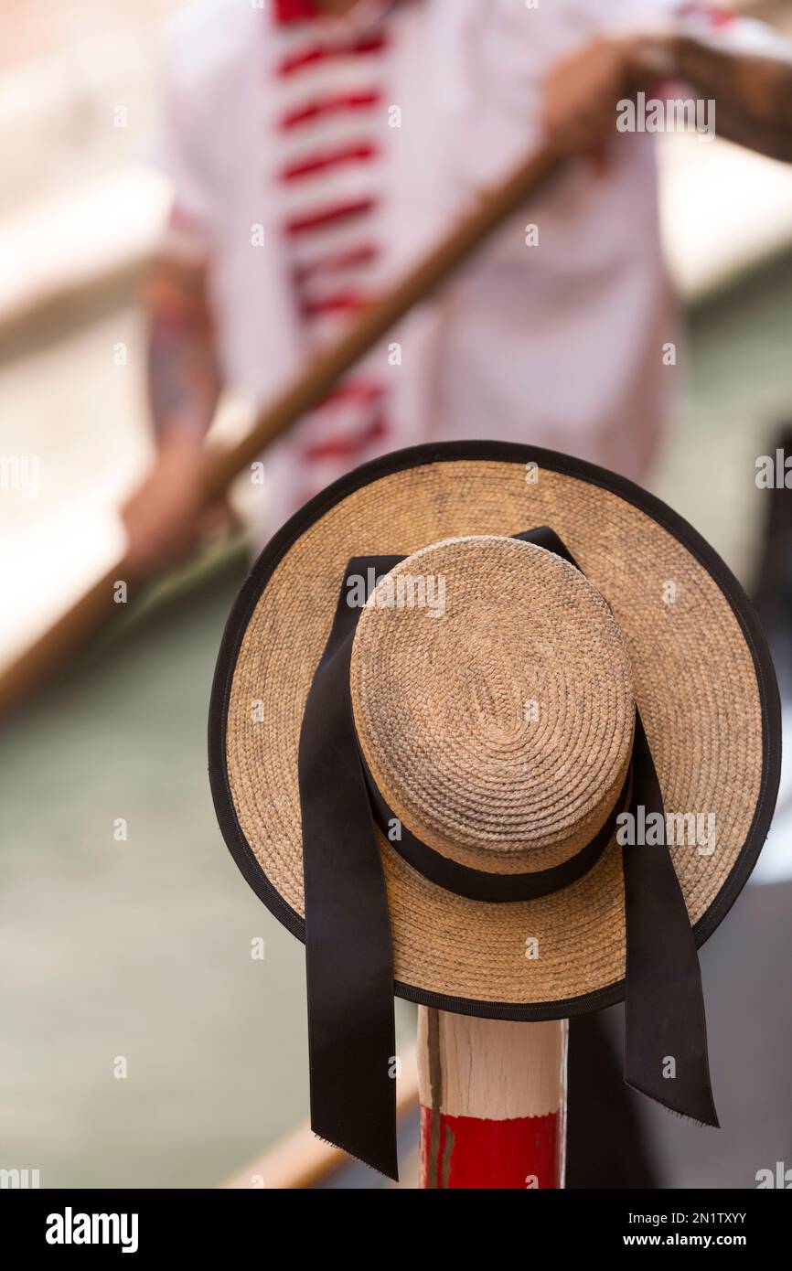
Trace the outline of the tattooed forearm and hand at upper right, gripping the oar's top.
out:
M 706 34 L 597 39 L 545 81 L 548 140 L 570 154 L 597 153 L 614 131 L 617 102 L 651 92 L 659 76 L 714 100 L 718 136 L 792 163 L 792 53 L 781 41 L 758 53 Z

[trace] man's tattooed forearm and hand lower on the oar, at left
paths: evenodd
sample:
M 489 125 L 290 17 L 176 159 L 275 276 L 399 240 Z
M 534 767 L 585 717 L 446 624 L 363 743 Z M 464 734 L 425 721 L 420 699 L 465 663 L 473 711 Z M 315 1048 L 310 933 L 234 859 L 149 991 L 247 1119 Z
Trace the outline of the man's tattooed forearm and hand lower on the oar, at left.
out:
M 179 559 L 198 535 L 202 441 L 221 389 L 205 268 L 156 261 L 145 283 L 144 306 L 156 455 L 122 508 L 127 561 L 141 576 Z

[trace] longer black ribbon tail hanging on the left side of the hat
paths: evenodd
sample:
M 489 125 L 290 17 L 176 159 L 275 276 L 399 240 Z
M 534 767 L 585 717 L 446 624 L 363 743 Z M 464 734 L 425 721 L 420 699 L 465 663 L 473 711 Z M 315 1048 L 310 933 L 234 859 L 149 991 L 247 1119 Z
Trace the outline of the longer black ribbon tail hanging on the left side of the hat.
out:
M 394 1179 L 390 918 L 348 684 L 360 580 L 367 595 L 372 577 L 400 559 L 350 562 L 308 695 L 299 758 L 311 1130 Z

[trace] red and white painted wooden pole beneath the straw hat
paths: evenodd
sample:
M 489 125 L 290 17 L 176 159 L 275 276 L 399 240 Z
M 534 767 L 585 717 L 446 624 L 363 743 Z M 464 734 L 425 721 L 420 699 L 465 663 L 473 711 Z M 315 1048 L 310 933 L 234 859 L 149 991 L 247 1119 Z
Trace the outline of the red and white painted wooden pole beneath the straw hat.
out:
M 563 1187 L 567 1031 L 420 1008 L 420 1187 Z

